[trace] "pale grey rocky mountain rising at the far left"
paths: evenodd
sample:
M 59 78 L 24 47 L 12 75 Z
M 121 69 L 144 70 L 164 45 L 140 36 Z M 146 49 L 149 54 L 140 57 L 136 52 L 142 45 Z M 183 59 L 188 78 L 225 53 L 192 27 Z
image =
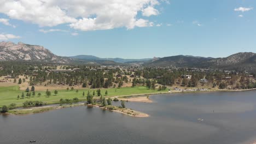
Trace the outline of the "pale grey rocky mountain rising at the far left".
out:
M 29 45 L 19 42 L 18 44 L 10 41 L 0 42 L 0 61 L 36 61 L 69 63 L 72 59 L 54 55 L 43 46 Z

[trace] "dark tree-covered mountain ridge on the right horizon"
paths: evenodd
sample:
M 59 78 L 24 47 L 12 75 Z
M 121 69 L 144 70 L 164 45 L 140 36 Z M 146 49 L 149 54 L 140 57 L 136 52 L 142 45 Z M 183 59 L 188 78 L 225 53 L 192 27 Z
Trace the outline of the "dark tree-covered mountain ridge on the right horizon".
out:
M 240 52 L 224 58 L 171 56 L 145 63 L 150 67 L 214 68 L 256 71 L 256 53 Z

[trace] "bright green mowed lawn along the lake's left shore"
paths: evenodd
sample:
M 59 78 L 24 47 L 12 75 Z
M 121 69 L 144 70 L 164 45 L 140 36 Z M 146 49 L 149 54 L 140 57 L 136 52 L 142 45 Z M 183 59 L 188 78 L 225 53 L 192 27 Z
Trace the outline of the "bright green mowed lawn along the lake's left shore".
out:
M 37 87 L 35 88 L 37 89 Z M 86 95 L 90 91 L 92 94 L 95 91 L 95 96 L 97 95 L 97 89 L 79 89 L 78 93 L 76 89 L 67 91 L 66 89 L 58 90 L 58 94 L 55 95 L 54 91 L 51 91 L 51 96 L 46 97 L 45 91 L 40 91 L 42 94 L 40 97 L 37 96 L 39 91 L 36 90 L 35 97 L 26 97 L 25 91 L 20 91 L 19 86 L 9 86 L 9 87 L 0 87 L 0 107 L 3 105 L 10 105 L 11 103 L 15 103 L 17 106 L 22 106 L 26 100 L 31 101 L 43 101 L 46 104 L 54 104 L 59 103 L 59 100 L 62 99 L 73 99 L 78 98 L 79 100 L 86 100 Z M 157 89 L 148 89 L 147 87 L 123 87 L 123 88 L 102 88 L 101 94 L 105 95 L 105 92 L 108 91 L 108 97 L 122 96 L 122 95 L 133 95 L 133 94 L 148 94 L 148 93 L 160 93 L 167 92 L 167 90 L 158 91 Z M 24 92 L 25 98 L 21 99 L 21 94 Z M 85 96 L 83 97 L 83 92 L 85 92 Z M 20 95 L 20 99 L 18 99 L 18 95 Z

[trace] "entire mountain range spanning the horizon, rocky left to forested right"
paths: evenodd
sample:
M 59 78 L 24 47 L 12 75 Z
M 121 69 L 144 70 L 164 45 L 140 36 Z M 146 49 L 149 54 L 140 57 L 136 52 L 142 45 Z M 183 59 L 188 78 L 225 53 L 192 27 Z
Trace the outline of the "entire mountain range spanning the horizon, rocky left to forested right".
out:
M 256 72 L 256 53 L 240 52 L 224 58 L 170 56 L 163 58 L 100 58 L 90 55 L 61 57 L 39 45 L 30 45 L 10 41 L 0 42 L 0 61 L 32 61 L 66 64 L 132 65 L 146 67 L 212 68 L 229 70 L 247 70 Z

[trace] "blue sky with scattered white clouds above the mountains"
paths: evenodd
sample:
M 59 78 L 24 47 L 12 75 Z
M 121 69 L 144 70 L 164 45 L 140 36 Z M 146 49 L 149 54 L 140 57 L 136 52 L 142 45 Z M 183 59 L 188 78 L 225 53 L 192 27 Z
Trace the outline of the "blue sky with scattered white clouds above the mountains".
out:
M 256 52 L 254 0 L 0 0 L 0 41 L 59 56 Z

